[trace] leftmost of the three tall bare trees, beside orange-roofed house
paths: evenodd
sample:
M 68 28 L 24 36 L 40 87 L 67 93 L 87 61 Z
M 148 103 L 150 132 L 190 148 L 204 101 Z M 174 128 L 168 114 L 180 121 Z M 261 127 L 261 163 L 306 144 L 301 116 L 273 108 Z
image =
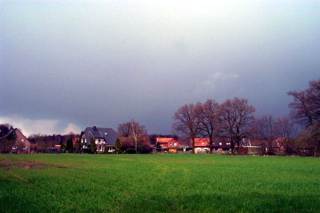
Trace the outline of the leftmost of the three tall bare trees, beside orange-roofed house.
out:
M 184 134 L 192 139 L 192 153 L 194 153 L 194 138 L 201 131 L 201 104 L 186 104 L 175 112 L 172 125 L 174 132 Z

